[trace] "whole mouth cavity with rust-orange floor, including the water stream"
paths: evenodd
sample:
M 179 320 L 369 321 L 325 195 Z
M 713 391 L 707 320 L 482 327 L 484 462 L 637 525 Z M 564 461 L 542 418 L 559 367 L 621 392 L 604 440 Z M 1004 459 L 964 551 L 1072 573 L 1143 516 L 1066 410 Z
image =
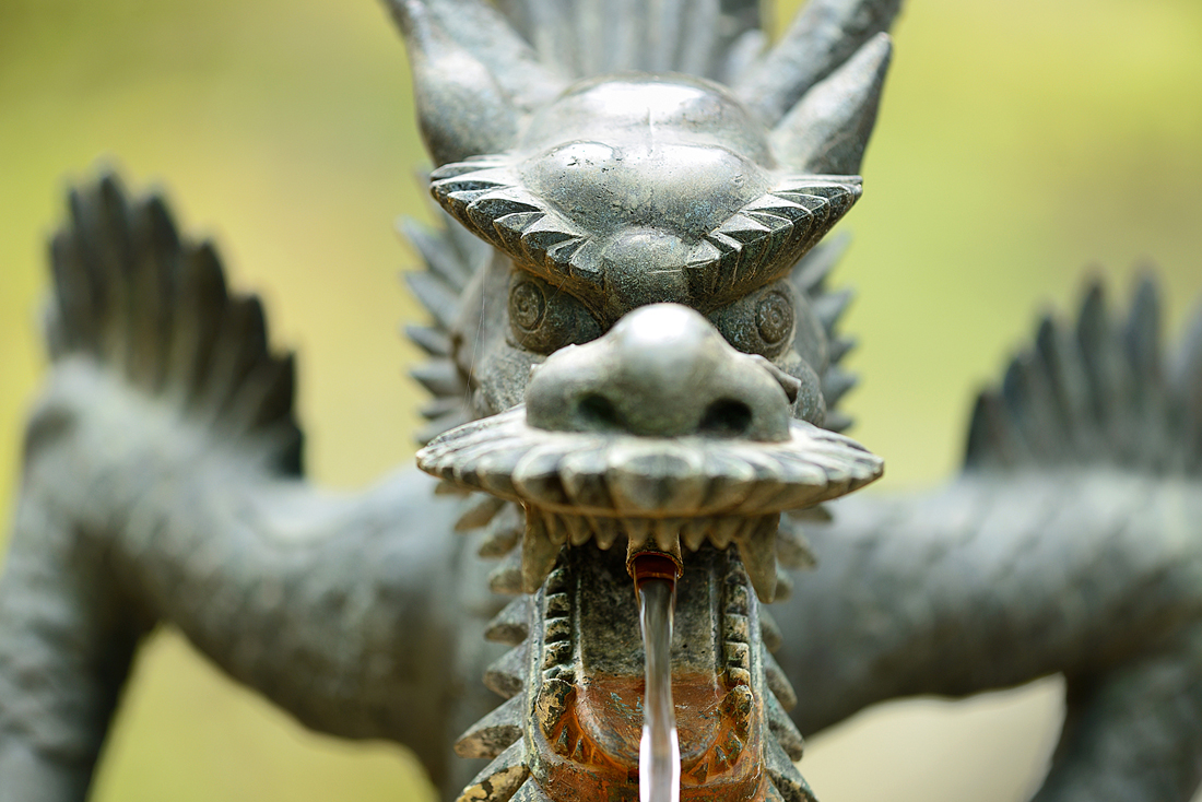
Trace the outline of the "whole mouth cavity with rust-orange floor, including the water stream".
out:
M 706 546 L 679 574 L 667 553 L 624 558 L 567 549 L 529 602 L 529 798 L 780 802 L 764 771 L 770 657 L 738 556 Z M 614 586 L 624 569 L 637 594 Z

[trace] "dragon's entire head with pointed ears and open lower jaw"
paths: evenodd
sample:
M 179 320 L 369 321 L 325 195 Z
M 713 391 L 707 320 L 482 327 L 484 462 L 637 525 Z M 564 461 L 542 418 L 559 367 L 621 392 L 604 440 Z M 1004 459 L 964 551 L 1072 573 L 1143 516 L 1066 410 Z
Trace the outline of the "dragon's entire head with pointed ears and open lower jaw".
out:
M 506 554 L 494 589 L 518 594 L 489 630 L 514 649 L 486 677 L 511 699 L 458 744 L 494 760 L 462 798 L 636 798 L 629 568 L 648 552 L 677 576 L 682 797 L 809 798 L 761 605 L 787 588 L 778 557 L 804 559 L 781 513 L 882 469 L 832 430 L 850 382 L 841 304 L 821 286 L 831 249 L 815 245 L 861 195 L 887 36 L 864 36 L 772 125 L 766 103 L 674 73 L 545 75 L 555 93 L 540 96 L 475 69 L 436 6 L 397 8 L 440 162 L 432 192 L 490 245 L 442 315 L 442 373 L 462 391 L 418 453 L 489 495 L 468 518 Z

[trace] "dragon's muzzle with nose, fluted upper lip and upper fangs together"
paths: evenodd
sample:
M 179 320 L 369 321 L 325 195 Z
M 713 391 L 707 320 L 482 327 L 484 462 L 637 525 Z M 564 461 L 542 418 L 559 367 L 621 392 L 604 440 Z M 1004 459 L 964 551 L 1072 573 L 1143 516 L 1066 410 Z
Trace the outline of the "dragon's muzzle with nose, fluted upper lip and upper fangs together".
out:
M 563 546 L 590 540 L 679 563 L 682 546 L 732 542 L 756 593 L 776 587 L 780 513 L 849 493 L 882 463 L 795 414 L 807 382 L 740 352 L 697 311 L 650 304 L 531 370 L 525 404 L 452 429 L 418 467 L 526 511 L 528 593 Z M 816 411 L 821 405 L 803 404 Z

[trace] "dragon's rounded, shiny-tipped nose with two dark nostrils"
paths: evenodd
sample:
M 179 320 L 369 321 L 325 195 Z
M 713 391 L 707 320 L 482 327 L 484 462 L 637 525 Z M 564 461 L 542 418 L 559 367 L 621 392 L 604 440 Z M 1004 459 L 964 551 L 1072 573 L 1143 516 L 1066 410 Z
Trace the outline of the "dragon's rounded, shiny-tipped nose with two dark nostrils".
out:
M 798 380 L 680 304 L 641 307 L 534 369 L 526 421 L 552 432 L 787 440 Z

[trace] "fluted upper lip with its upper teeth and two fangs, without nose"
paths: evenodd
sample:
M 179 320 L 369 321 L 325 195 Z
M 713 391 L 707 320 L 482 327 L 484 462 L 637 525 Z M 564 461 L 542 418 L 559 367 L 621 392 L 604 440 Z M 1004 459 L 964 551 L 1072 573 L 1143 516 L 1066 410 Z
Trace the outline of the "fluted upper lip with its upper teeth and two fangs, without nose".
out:
M 423 470 L 525 507 L 523 586 L 536 590 L 564 545 L 680 554 L 734 543 L 757 595 L 775 594 L 780 513 L 867 485 L 879 457 L 805 421 L 790 438 L 760 442 L 706 436 L 548 432 L 525 409 L 460 426 L 417 455 Z

